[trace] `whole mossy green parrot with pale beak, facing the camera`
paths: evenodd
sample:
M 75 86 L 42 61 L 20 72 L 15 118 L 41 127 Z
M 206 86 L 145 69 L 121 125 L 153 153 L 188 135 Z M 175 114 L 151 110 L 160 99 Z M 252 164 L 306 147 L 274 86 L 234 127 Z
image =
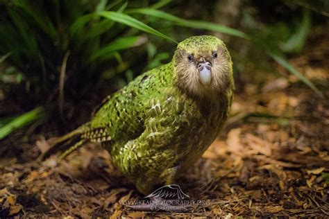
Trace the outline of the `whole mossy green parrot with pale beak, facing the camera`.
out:
M 233 99 L 225 44 L 210 35 L 180 42 L 168 64 L 146 71 L 96 109 L 90 122 L 60 137 L 68 148 L 101 142 L 140 193 L 171 184 L 217 137 Z

